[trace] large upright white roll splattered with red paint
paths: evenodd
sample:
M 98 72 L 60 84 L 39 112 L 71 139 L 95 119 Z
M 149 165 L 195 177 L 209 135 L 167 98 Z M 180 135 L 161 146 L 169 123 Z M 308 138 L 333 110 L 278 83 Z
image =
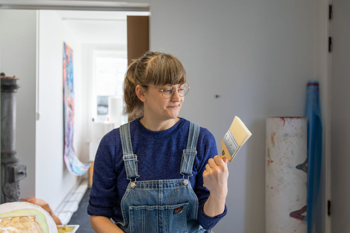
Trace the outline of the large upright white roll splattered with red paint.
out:
M 307 121 L 266 119 L 266 232 L 307 232 Z

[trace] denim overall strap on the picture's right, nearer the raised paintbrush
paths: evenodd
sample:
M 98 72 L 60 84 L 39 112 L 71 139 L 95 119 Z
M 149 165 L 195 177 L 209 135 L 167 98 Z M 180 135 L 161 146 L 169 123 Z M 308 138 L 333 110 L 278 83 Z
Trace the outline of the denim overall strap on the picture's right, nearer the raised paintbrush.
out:
M 190 128 L 188 133 L 187 148 L 183 150 L 180 173 L 185 177 L 192 176 L 193 162 L 197 154 L 197 141 L 200 126 L 190 121 Z

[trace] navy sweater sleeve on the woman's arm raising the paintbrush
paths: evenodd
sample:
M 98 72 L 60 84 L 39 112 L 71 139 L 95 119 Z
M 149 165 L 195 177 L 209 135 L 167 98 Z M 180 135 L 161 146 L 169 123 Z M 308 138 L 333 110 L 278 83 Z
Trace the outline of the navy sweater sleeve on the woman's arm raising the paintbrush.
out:
M 205 165 L 208 163 L 209 158 L 213 158 L 217 155 L 217 147 L 214 136 L 205 129 L 205 133 L 202 141 L 198 140 L 197 143 L 197 151 L 200 151 L 200 154 L 203 156 L 201 161 L 200 170 L 198 170 L 195 193 L 198 197 L 198 214 L 197 220 L 198 223 L 206 230 L 213 228 L 220 219 L 222 219 L 227 213 L 227 206 L 225 204 L 225 210 L 222 214 L 209 217 L 204 213 L 204 203 L 207 201 L 209 197 L 209 190 L 203 186 L 203 172 L 205 170 Z

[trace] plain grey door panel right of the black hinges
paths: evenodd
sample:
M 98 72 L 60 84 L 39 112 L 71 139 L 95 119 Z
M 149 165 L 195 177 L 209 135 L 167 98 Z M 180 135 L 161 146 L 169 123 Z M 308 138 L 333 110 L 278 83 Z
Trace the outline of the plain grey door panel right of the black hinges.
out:
M 350 2 L 333 1 L 332 20 L 332 232 L 350 232 Z

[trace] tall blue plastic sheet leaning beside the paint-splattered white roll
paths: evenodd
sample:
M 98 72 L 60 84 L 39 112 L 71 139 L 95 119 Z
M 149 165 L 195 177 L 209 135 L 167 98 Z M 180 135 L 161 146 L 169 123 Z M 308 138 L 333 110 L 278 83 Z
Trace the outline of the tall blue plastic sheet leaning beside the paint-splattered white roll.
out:
M 307 117 L 307 221 L 308 233 L 315 225 L 315 210 L 320 198 L 320 178 L 322 161 L 322 123 L 318 100 L 318 82 L 310 81 L 307 84 L 306 117 Z

